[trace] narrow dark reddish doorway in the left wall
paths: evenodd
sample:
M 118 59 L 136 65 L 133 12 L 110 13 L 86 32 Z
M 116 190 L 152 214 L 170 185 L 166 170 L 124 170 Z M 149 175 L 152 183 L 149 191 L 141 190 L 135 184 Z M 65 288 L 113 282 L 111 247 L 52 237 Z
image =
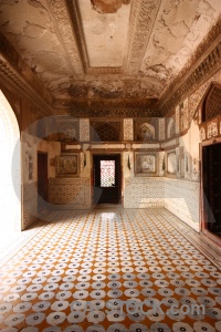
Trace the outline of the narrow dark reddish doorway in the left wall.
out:
M 38 211 L 48 207 L 48 153 L 38 152 Z

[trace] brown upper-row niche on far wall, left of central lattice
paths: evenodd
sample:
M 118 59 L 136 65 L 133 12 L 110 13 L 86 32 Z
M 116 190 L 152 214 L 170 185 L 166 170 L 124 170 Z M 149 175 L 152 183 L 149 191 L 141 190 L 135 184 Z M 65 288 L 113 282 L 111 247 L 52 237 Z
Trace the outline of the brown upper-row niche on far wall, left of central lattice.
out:
M 60 123 L 60 139 L 61 142 L 77 142 L 78 141 L 78 122 L 65 121 Z

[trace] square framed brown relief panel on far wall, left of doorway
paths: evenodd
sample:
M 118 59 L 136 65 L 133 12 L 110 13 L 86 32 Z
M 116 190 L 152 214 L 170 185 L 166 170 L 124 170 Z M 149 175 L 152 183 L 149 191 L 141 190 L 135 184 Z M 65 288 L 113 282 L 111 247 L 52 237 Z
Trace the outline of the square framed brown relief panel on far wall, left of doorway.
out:
M 56 176 L 73 177 L 80 173 L 78 154 L 64 153 L 56 156 Z

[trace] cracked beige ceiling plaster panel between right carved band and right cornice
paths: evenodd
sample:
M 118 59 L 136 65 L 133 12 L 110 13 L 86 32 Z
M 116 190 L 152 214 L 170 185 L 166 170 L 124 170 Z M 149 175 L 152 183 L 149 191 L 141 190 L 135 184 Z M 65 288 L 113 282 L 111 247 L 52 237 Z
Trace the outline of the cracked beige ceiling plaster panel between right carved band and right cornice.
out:
M 164 1 L 141 65 L 144 75 L 169 84 L 191 59 L 220 12 L 221 4 L 215 0 Z

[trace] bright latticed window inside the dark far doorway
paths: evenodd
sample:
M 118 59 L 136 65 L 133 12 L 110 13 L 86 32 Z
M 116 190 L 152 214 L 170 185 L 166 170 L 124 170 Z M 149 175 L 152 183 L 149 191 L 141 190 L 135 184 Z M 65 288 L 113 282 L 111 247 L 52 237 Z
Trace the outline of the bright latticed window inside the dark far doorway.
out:
M 101 160 L 101 186 L 115 186 L 115 160 Z

